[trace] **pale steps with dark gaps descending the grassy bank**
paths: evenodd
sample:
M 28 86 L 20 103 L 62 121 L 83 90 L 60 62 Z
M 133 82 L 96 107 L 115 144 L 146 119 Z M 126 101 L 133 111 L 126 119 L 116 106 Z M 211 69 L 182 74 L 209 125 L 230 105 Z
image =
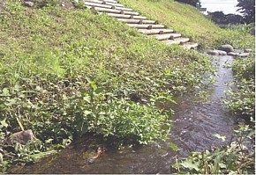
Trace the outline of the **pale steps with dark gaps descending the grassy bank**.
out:
M 140 16 L 139 12 L 125 8 L 123 4 L 118 4 L 117 0 L 83 0 L 82 2 L 94 13 L 106 13 L 130 27 L 137 28 L 139 33 L 152 36 L 168 45 L 179 44 L 188 49 L 198 47 L 198 43 L 190 42 L 190 39 L 185 38 L 182 34 L 175 33 L 172 29 L 159 25 L 154 20 L 148 20 L 146 17 Z

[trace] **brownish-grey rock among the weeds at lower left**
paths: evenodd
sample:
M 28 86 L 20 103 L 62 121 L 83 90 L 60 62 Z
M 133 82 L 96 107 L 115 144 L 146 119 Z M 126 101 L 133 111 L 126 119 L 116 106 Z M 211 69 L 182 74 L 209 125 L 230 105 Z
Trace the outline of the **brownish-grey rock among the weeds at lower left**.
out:
M 11 135 L 12 141 L 19 142 L 20 144 L 26 144 L 27 142 L 34 140 L 34 138 L 35 137 L 31 129 Z

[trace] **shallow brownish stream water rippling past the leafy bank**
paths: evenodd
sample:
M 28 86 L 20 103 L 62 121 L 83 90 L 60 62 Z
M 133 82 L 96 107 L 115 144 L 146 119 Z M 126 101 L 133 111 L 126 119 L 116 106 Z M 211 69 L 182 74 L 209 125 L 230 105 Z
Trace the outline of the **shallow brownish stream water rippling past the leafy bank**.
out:
M 218 57 L 217 57 L 218 58 Z M 74 147 L 64 149 L 59 155 L 46 157 L 41 163 L 25 166 L 13 173 L 170 173 L 170 164 L 175 163 L 175 157 L 187 157 L 191 151 L 211 149 L 230 142 L 230 135 L 235 123 L 230 113 L 222 106 L 225 85 L 232 81 L 231 69 L 223 65 L 231 61 L 230 56 L 219 57 L 219 77 L 209 88 L 210 101 L 196 103 L 192 97 L 177 98 L 173 128 L 169 133 L 169 141 L 158 142 L 155 145 L 139 146 L 124 150 L 107 150 L 93 164 L 87 164 L 96 151 L 88 153 L 84 148 L 87 142 L 79 142 Z M 226 141 L 214 135 L 226 136 Z M 170 149 L 174 142 L 178 151 Z

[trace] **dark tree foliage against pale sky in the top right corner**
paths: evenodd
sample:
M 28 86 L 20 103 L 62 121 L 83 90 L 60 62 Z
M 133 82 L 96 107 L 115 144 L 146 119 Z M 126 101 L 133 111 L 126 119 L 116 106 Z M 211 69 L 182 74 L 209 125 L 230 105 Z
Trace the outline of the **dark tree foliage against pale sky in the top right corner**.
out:
M 245 23 L 252 23 L 255 21 L 255 0 L 238 0 L 238 10 L 244 18 Z

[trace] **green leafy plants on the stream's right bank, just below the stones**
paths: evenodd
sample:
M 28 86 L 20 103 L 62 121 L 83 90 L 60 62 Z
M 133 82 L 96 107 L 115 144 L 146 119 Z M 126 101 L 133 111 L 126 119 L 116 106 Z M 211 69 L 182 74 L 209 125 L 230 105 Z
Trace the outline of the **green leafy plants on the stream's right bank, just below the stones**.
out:
M 232 69 L 236 81 L 232 84 L 236 89 L 226 91 L 227 98 L 224 104 L 231 112 L 250 119 L 255 116 L 255 59 L 254 54 L 248 58 L 237 59 Z

